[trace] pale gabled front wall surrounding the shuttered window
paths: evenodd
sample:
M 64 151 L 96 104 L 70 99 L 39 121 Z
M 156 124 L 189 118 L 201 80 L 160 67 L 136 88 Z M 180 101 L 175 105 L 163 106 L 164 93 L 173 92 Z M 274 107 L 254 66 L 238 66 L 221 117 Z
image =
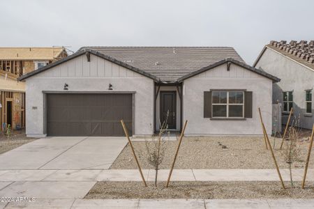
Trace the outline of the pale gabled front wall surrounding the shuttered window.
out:
M 211 120 L 211 110 L 204 109 L 210 99 L 210 89 L 246 89 L 252 92 L 252 118 L 246 113 L 244 121 Z M 257 107 L 262 109 L 262 116 L 271 133 L 271 93 L 272 81 L 255 72 L 231 64 L 230 71 L 223 64 L 214 69 L 184 80 L 184 120 L 188 120 L 186 135 L 261 135 L 260 118 Z M 227 127 L 227 128 L 226 128 Z

